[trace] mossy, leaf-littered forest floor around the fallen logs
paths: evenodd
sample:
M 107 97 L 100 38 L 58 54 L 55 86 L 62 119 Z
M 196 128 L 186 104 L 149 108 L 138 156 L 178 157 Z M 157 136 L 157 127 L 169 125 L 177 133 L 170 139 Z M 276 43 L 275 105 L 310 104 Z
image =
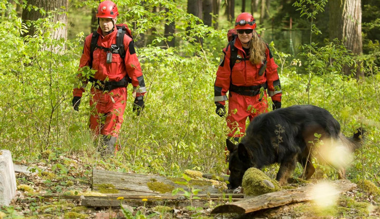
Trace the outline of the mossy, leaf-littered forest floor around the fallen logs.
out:
M 380 218 L 380 197 L 359 188 L 340 195 L 335 205 L 320 208 L 313 202 L 299 202 L 245 215 L 211 214 L 218 201 L 204 201 L 203 207 L 93 208 L 81 206 L 81 199 L 44 197 L 60 193 L 91 191 L 91 166 L 77 156 L 61 156 L 63 165 L 41 161 L 15 164 L 35 167 L 39 173 L 16 173 L 17 193 L 10 207 L 0 208 L 1 218 Z M 107 167 L 98 166 L 100 169 Z M 67 169 L 66 169 L 67 168 Z M 32 169 L 33 170 L 33 169 Z M 226 201 L 228 198 L 226 198 Z M 224 201 L 224 202 L 226 202 Z M 143 203 L 143 202 L 142 202 Z

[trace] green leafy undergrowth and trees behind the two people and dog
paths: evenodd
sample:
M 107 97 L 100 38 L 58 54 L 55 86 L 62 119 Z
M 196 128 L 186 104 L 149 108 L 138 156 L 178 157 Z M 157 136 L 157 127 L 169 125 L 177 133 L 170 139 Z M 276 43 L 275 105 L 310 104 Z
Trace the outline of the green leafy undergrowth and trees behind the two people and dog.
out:
M 283 107 L 324 107 L 346 136 L 364 127 L 365 143 L 347 177 L 379 186 L 379 0 L 114 2 L 118 23 L 132 30 L 148 92 L 140 116 L 128 97 L 121 150 L 103 160 L 88 129 L 89 93 L 79 112 L 71 106 L 99 1 L 0 0 L 0 148 L 14 160 L 44 158 L 64 167 L 60 156 L 75 154 L 89 166 L 121 172 L 224 172 L 226 125 L 215 114 L 213 84 L 227 30 L 245 11 L 279 66 Z M 332 168 L 315 166 L 315 177 L 336 178 Z M 276 169 L 264 171 L 273 176 Z

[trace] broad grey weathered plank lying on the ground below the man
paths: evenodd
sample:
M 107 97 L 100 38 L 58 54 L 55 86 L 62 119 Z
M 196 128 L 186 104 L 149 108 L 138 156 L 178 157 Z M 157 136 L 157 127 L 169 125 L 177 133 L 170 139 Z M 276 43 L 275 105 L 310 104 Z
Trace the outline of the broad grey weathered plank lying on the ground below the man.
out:
M 103 170 L 93 170 L 92 172 L 92 189 L 94 191 L 99 191 L 101 189 L 100 185 L 112 184 L 119 193 L 127 193 L 128 195 L 161 195 L 161 196 L 171 196 L 171 191 L 167 193 L 160 193 L 157 191 L 152 191 L 148 188 L 148 182 L 162 182 L 174 188 L 187 189 L 184 185 L 178 185 L 172 180 L 154 175 L 141 175 L 141 174 L 131 174 L 131 173 L 121 173 Z M 194 186 L 197 189 L 202 189 L 201 194 L 206 193 L 219 193 L 217 188 L 212 186 Z

